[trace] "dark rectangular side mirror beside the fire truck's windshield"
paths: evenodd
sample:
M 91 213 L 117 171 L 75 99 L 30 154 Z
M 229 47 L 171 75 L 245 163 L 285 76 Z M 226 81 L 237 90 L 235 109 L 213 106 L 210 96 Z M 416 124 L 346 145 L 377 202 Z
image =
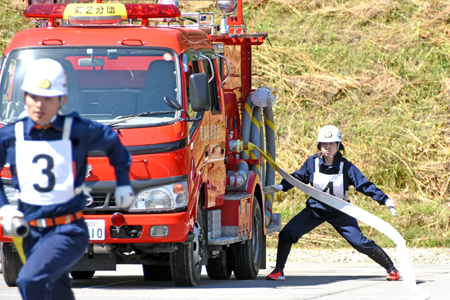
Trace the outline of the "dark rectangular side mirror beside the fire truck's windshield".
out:
M 193 111 L 198 112 L 211 110 L 207 74 L 196 73 L 189 76 L 189 98 Z

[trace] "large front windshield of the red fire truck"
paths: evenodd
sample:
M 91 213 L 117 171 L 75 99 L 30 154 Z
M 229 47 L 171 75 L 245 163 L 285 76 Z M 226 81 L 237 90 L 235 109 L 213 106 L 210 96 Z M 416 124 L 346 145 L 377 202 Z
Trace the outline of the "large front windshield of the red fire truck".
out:
M 172 50 L 59 47 L 17 50 L 8 56 L 0 86 L 4 123 L 27 116 L 21 86 L 27 66 L 41 58 L 60 62 L 66 71 L 63 114 L 76 111 L 104 124 L 130 127 L 170 122 L 176 116 L 164 101 L 166 96 L 180 101 L 179 64 Z M 129 115 L 136 116 L 123 118 Z

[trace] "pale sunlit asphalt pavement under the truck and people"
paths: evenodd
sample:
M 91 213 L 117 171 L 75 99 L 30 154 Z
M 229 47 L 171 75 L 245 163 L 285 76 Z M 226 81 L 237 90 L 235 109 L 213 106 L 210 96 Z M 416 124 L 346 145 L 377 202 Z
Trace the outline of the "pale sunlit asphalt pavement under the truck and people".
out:
M 268 262 L 268 266 L 273 264 Z M 450 265 L 413 265 L 418 286 L 429 299 L 450 299 Z M 203 270 L 197 287 L 181 288 L 171 281 L 143 280 L 139 265 L 119 265 L 117 271 L 97 272 L 91 280 L 74 280 L 77 300 L 144 299 L 424 299 L 406 288 L 402 281 L 388 282 L 375 263 L 288 262 L 285 281 L 268 281 L 261 270 L 255 280 L 210 280 Z M 16 287 L 0 278 L 0 299 L 21 299 Z M 64 299 L 62 299 L 64 300 Z

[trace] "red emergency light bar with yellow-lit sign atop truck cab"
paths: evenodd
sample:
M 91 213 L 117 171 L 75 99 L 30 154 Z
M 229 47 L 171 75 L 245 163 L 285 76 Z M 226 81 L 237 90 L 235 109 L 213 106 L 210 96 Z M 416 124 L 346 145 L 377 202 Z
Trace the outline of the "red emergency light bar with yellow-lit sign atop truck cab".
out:
M 74 24 L 113 24 L 127 19 L 177 18 L 181 12 L 175 5 L 165 4 L 70 3 L 33 4 L 25 9 L 24 16 Z

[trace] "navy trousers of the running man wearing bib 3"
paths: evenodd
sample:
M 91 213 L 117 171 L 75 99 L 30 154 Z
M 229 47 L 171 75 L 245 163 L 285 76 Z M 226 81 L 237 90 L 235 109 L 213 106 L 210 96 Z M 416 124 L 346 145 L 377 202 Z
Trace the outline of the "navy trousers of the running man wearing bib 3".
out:
M 30 233 L 23 239 L 27 261 L 17 279 L 22 298 L 75 299 L 69 268 L 83 256 L 88 244 L 84 219 L 48 228 L 30 226 Z

